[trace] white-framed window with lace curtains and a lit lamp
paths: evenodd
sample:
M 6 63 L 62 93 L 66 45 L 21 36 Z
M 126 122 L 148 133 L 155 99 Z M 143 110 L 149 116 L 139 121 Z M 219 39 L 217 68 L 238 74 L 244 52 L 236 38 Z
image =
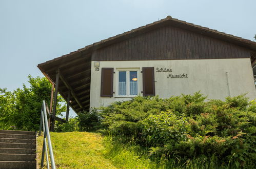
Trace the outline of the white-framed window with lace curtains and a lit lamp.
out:
M 137 70 L 119 70 L 117 87 L 118 96 L 136 96 L 138 95 L 138 71 Z

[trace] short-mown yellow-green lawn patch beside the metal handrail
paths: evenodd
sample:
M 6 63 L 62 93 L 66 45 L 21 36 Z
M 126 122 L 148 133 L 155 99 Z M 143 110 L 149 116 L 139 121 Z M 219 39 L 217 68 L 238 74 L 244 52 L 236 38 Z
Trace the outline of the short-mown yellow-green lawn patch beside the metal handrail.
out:
M 103 155 L 103 137 L 88 132 L 50 133 L 57 168 L 116 168 Z M 37 137 L 37 162 L 41 163 L 43 136 Z M 49 159 L 50 161 L 50 159 Z M 46 160 L 44 162 L 46 166 Z

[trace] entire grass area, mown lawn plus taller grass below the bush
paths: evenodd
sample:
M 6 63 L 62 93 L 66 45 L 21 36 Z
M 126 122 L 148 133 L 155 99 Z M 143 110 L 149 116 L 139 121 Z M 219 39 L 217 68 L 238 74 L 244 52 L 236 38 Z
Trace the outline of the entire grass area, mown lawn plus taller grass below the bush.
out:
M 50 133 L 57 168 L 235 168 L 218 165 L 216 159 L 195 158 L 150 161 L 140 146 L 112 141 L 98 133 Z M 43 136 L 37 137 L 37 165 L 40 167 Z M 50 156 L 49 156 L 50 158 Z M 50 159 L 49 159 L 50 161 Z M 46 159 L 44 168 L 47 168 Z

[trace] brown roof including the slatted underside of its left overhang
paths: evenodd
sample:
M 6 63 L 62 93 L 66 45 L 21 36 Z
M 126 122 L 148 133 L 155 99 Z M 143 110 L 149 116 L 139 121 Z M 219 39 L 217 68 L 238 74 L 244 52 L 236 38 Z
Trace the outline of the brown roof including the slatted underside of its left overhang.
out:
M 251 61 L 255 61 L 256 42 L 167 16 L 154 23 L 109 37 L 67 55 L 46 61 L 37 67 L 52 83 L 55 83 L 56 74 L 60 72 L 60 94 L 67 100 L 68 91 L 71 90 L 71 107 L 73 110 L 76 113 L 83 110 L 88 111 L 90 108 L 91 53 L 97 49 L 164 26 L 182 28 L 242 46 L 251 51 Z

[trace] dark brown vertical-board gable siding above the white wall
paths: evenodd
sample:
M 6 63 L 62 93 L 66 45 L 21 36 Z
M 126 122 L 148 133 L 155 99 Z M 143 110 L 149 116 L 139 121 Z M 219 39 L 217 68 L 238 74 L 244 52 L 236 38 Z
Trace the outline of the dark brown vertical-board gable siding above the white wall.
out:
M 250 51 L 176 27 L 162 27 L 92 52 L 92 60 L 250 58 Z

